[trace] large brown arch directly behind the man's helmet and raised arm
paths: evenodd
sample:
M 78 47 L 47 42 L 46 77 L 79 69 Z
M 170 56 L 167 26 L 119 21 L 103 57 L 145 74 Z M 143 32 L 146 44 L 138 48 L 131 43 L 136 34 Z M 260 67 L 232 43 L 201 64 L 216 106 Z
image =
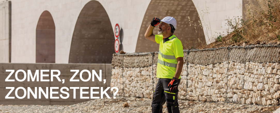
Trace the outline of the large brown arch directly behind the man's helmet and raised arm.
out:
M 158 51 L 159 44 L 146 39 L 144 34 L 153 17 L 162 19 L 166 16 L 176 19 L 177 29 L 174 35 L 181 40 L 184 49 L 197 48 L 199 44 L 206 44 L 203 28 L 199 27 L 199 14 L 192 0 L 151 0 L 141 24 L 135 52 Z M 190 24 L 191 21 L 192 24 Z M 196 29 L 194 25 L 196 25 Z M 157 34 L 157 32 L 158 25 L 154 28 L 153 34 Z

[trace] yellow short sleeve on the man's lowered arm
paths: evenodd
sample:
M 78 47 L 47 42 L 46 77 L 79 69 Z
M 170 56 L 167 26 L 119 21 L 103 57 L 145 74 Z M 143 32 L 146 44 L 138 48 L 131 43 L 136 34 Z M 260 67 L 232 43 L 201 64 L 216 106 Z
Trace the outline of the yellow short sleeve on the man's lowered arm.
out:
M 183 46 L 179 39 L 175 39 L 173 41 L 172 48 L 173 48 L 173 53 L 174 53 L 174 56 L 176 57 L 176 59 L 178 57 L 184 57 Z

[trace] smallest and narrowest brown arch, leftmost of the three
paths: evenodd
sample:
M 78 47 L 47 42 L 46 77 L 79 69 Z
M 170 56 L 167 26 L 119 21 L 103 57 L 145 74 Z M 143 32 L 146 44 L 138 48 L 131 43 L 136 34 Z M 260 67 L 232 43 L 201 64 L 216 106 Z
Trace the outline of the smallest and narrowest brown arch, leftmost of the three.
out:
M 55 63 L 55 24 L 49 11 L 44 11 L 37 23 L 36 63 Z

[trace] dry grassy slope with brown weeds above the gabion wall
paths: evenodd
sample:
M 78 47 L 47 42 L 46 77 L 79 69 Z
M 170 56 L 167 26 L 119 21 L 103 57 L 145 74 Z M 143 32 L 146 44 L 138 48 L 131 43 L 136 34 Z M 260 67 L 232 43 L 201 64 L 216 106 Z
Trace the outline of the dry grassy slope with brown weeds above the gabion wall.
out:
M 248 0 L 245 10 L 246 20 L 241 17 L 228 18 L 227 35 L 220 40 L 215 38 L 215 42 L 199 47 L 199 49 L 227 47 L 228 45 L 276 44 L 279 42 L 279 0 Z

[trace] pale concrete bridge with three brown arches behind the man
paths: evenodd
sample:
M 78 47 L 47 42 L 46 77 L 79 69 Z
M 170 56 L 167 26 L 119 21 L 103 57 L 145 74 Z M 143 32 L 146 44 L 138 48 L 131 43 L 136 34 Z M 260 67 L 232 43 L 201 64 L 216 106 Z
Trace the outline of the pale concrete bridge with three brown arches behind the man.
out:
M 227 17 L 242 16 L 242 0 L 2 0 L 0 62 L 111 63 L 114 28 L 120 49 L 158 51 L 144 33 L 153 17 L 172 16 L 183 43 L 209 44 Z M 241 10 L 239 10 L 241 9 Z M 157 33 L 158 28 L 153 31 Z M 193 47 L 198 43 L 193 43 Z

